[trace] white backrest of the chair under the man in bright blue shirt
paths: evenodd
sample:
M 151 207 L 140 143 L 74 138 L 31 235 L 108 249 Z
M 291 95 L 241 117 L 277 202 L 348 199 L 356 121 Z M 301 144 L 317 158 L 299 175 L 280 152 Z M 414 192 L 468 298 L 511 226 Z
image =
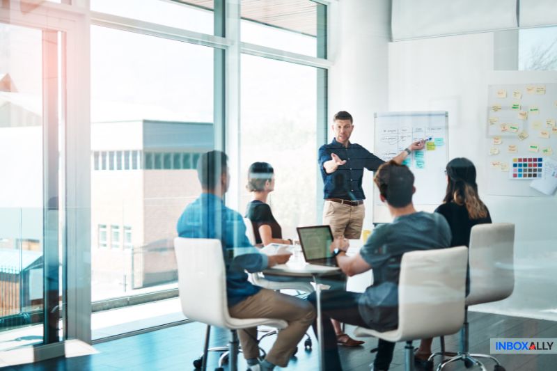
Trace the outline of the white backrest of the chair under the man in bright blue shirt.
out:
M 219 239 L 174 239 L 182 312 L 212 326 L 229 322 L 226 269 Z

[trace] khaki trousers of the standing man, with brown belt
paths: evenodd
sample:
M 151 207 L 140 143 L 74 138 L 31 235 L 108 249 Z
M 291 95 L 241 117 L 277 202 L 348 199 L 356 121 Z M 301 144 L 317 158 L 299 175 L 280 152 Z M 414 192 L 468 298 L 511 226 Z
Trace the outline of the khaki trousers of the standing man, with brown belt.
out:
M 323 224 L 329 224 L 333 237 L 344 236 L 347 239 L 359 239 L 366 208 L 361 205 L 351 206 L 345 203 L 325 201 L 323 206 Z

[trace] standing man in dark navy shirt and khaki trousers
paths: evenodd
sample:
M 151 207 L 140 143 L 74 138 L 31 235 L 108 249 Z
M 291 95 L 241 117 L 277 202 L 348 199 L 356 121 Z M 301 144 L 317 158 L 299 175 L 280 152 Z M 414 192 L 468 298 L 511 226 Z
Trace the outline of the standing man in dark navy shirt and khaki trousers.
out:
M 350 143 L 354 130 L 352 115 L 340 111 L 334 116 L 333 141 L 319 149 L 319 166 L 324 182 L 323 224 L 329 224 L 334 237 L 359 239 L 365 209 L 361 182 L 363 168 L 376 171 L 384 161 L 356 143 Z M 402 161 L 413 150 L 423 150 L 424 141 L 411 143 L 393 161 Z

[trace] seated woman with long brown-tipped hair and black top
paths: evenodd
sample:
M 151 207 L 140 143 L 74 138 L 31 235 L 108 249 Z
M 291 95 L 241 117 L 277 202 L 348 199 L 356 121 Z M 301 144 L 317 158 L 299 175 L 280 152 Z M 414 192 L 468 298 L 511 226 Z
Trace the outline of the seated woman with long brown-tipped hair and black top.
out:
M 448 162 L 445 174 L 447 191 L 443 203 L 435 212 L 439 212 L 448 221 L 450 232 L 453 234 L 450 247 L 469 246 L 472 227 L 476 224 L 492 222 L 489 210 L 478 196 L 476 167 L 469 159 L 457 157 Z M 468 277 L 466 277 L 466 287 L 468 287 Z M 433 367 L 433 363 L 425 364 L 431 354 L 431 342 L 432 339 L 422 339 L 416 352 L 416 365 L 421 365 L 423 369 Z

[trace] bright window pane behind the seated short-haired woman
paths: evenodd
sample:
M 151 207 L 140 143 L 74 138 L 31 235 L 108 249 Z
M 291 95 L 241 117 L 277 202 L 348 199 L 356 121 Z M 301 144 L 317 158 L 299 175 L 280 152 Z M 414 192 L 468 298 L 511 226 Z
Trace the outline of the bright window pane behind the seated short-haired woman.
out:
M 283 237 L 294 238 L 297 226 L 315 224 L 317 68 L 243 55 L 240 140 L 242 186 L 251 163 L 274 167 L 269 203 Z M 249 199 L 244 191 L 241 207 Z

